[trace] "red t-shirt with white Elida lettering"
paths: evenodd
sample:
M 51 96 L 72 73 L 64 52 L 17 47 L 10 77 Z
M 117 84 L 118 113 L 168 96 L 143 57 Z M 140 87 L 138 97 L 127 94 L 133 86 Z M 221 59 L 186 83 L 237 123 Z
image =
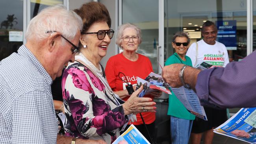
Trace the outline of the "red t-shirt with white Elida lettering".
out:
M 141 54 L 138 55 L 139 58 L 137 61 L 130 61 L 129 59 L 126 59 L 122 53 L 109 58 L 105 72 L 108 83 L 113 91 L 126 89 L 127 84 L 124 82 L 126 79 L 129 84 L 136 85 L 138 77 L 145 79 L 150 72 L 153 72 L 153 68 L 148 57 Z M 120 74 L 120 78 L 122 78 L 124 81 L 119 78 L 119 72 L 125 74 L 126 79 L 124 78 L 123 74 Z M 151 95 L 145 95 L 144 97 L 153 99 L 153 96 Z M 126 101 L 128 98 L 129 96 L 123 98 L 122 100 Z M 141 114 L 146 124 L 151 124 L 156 119 L 155 113 L 146 112 Z M 143 124 L 140 115 L 137 114 L 136 116 L 137 122 L 134 122 L 133 124 Z

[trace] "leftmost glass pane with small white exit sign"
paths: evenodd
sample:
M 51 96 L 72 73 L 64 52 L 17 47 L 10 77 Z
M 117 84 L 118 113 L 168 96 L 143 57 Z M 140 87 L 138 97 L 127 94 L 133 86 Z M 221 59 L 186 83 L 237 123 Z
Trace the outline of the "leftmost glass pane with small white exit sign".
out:
M 23 1 L 0 1 L 0 61 L 17 52 L 23 42 Z

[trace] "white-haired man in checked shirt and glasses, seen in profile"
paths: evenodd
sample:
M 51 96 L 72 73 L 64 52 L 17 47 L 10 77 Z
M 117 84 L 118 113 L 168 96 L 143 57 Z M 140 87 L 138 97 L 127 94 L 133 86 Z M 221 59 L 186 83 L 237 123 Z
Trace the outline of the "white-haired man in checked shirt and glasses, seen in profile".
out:
M 63 65 L 74 61 L 82 19 L 61 5 L 48 7 L 34 17 L 27 42 L 0 61 L 0 143 L 69 143 L 58 136 L 51 94 L 52 80 Z M 82 142 L 104 143 L 95 140 Z

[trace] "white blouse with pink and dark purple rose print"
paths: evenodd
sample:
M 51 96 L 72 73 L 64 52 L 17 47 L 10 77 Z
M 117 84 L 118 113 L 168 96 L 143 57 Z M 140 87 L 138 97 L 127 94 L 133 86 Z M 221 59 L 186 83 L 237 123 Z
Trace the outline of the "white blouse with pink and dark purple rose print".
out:
M 110 94 L 98 76 L 81 63 L 70 63 L 64 71 L 62 94 L 67 136 L 103 139 L 110 144 L 119 137 L 119 127 L 128 122 L 114 94 Z

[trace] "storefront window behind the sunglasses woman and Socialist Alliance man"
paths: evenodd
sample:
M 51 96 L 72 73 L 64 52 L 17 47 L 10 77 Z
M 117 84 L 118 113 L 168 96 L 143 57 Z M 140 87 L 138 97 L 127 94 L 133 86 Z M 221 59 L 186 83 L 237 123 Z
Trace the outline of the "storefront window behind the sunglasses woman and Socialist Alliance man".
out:
M 246 0 L 165 0 L 165 59 L 174 53 L 171 40 L 176 31 L 187 31 L 191 44 L 202 39 L 201 28 L 206 20 L 229 29 L 218 32 L 230 61 L 247 56 Z

